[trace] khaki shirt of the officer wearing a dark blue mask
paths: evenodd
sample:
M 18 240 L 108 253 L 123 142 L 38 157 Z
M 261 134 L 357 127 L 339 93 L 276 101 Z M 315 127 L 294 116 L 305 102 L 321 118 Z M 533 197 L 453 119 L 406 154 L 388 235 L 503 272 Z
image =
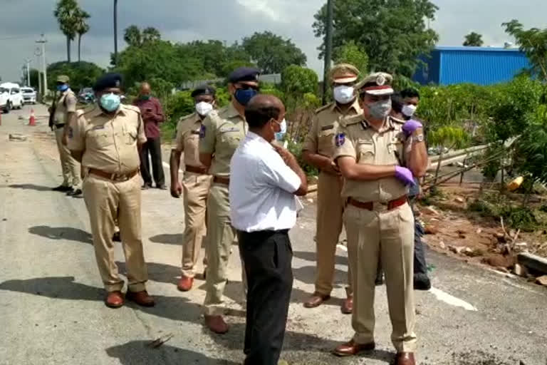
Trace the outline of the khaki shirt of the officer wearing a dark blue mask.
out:
M 213 154 L 209 173 L 229 177 L 231 156 L 248 129 L 245 119 L 232 103 L 207 115 L 199 132 L 199 153 Z

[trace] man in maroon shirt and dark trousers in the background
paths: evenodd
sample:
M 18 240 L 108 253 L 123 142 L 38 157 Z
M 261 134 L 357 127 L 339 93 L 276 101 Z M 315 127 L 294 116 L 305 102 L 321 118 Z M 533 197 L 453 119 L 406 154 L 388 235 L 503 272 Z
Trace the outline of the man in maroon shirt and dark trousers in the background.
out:
M 133 102 L 134 106 L 140 108 L 142 120 L 145 121 L 146 143 L 140 150 L 140 174 L 145 184 L 142 189 L 152 187 L 152 176 L 150 176 L 150 164 L 148 163 L 148 153 L 152 160 L 152 175 L 158 189 L 166 190 L 165 175 L 162 165 L 162 140 L 160 138 L 160 123 L 165 120 L 162 106 L 157 98 L 150 95 L 150 85 L 142 83 L 140 85 L 139 97 Z

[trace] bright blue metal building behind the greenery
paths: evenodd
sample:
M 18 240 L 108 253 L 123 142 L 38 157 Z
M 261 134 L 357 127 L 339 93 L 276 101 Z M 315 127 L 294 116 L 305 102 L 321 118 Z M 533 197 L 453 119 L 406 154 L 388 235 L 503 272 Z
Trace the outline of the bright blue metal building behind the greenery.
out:
M 510 81 L 530 67 L 526 55 L 516 48 L 437 47 L 422 61 L 427 66 L 418 68 L 413 77 L 422 85 L 491 85 Z

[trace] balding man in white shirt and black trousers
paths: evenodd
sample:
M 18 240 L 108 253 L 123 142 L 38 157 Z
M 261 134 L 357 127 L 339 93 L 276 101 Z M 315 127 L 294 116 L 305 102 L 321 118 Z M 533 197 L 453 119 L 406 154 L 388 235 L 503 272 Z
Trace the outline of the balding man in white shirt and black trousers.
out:
M 231 158 L 231 224 L 248 282 L 244 365 L 276 365 L 283 346 L 291 299 L 296 197 L 306 195 L 306 175 L 296 158 L 272 145 L 285 107 L 275 96 L 258 95 L 245 108 L 249 132 Z

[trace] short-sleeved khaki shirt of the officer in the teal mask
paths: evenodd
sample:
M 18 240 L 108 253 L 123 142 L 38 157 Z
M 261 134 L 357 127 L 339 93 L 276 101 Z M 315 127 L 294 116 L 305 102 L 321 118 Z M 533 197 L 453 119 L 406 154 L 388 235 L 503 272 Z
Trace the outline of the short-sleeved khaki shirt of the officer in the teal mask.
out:
M 68 148 L 83 152 L 84 168 L 115 174 L 139 168 L 137 143 L 146 142 L 139 108 L 121 105 L 115 115 L 108 115 L 95 106 L 77 113 L 68 130 Z

